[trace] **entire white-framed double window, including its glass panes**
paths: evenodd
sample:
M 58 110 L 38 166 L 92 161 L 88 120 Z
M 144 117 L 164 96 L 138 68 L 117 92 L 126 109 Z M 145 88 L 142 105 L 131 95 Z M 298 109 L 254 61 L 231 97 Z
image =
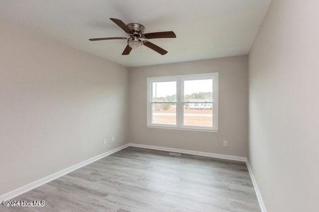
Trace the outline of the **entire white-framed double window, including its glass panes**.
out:
M 218 130 L 218 73 L 147 79 L 147 126 Z

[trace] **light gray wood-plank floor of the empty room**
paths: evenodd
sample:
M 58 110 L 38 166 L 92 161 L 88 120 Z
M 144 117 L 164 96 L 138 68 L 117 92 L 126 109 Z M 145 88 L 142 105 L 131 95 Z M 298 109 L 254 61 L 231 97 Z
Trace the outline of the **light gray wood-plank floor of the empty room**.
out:
M 128 147 L 13 200 L 0 211 L 260 212 L 245 163 Z

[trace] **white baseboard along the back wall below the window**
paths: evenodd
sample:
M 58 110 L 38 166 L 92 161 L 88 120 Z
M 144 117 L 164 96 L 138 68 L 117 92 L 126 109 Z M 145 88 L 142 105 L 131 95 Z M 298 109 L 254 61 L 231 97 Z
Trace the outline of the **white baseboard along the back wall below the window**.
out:
M 178 152 L 178 153 L 184 153 L 184 154 L 190 154 L 190 155 L 200 155 L 200 156 L 206 156 L 206 157 L 211 157 L 211 158 L 219 158 L 219 159 L 242 161 L 242 162 L 247 161 L 247 158 L 245 158 L 245 157 L 238 157 L 238 156 L 232 156 L 232 155 L 222 155 L 222 154 L 215 154 L 215 153 L 209 153 L 209 152 L 200 152 L 200 151 L 192 151 L 192 150 L 185 150 L 185 149 L 175 149 L 175 148 L 144 145 L 144 144 L 137 144 L 137 143 L 130 143 L 129 145 L 135 146 L 135 147 L 146 148 L 146 149 L 156 149 L 156 150 L 162 150 L 162 151 L 168 151 L 168 152 Z

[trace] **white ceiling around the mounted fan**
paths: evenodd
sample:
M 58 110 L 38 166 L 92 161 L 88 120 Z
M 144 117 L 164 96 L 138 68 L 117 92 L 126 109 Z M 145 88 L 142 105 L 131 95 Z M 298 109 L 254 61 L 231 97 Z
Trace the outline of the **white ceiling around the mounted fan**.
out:
M 271 0 L 0 0 L 0 19 L 128 67 L 248 54 Z M 143 46 L 122 56 L 126 37 L 109 18 L 138 22 L 164 56 Z

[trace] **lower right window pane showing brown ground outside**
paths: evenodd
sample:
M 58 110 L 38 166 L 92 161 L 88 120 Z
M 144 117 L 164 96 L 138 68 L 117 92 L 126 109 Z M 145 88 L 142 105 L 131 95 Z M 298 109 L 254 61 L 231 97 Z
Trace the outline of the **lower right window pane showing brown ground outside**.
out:
M 213 126 L 212 103 L 184 104 L 184 126 Z

